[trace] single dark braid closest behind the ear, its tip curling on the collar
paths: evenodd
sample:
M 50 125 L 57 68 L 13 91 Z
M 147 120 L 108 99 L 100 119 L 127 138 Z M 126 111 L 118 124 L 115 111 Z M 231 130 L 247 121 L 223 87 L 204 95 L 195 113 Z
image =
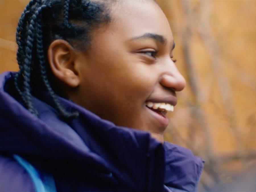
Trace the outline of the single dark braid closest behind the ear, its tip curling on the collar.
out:
M 44 6 L 44 5 L 43 5 Z M 41 7 L 42 9 L 45 7 Z M 40 67 L 40 72 L 41 72 L 41 77 L 43 80 L 44 85 L 46 86 L 46 89 L 48 90 L 51 98 L 54 101 L 55 107 L 59 111 L 61 117 L 64 117 L 66 119 L 70 119 L 73 117 L 77 117 L 78 113 L 69 113 L 67 112 L 59 103 L 57 99 L 57 95 L 53 91 L 53 89 L 50 86 L 47 73 L 46 73 L 46 67 L 45 67 L 45 58 L 44 58 L 44 50 L 43 50 L 43 31 L 42 31 L 42 14 L 38 16 L 38 23 L 37 23 L 37 38 L 36 38 L 36 48 L 37 48 L 37 57 L 38 57 L 38 62 L 39 62 L 39 67 Z

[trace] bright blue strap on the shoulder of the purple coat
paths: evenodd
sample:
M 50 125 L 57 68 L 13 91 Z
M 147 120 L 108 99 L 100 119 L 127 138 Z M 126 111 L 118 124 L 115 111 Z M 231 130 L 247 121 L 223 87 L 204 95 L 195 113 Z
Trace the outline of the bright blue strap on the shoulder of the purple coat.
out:
M 31 177 L 36 192 L 57 192 L 53 176 L 51 174 L 43 174 L 43 179 L 40 178 L 38 171 L 21 156 L 13 154 L 13 158 L 28 172 Z

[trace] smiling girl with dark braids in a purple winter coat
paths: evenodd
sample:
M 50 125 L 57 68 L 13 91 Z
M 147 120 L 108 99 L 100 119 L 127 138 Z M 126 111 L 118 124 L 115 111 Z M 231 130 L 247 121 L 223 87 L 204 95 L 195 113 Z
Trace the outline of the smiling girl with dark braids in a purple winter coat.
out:
M 185 80 L 153 0 L 32 0 L 1 74 L 0 191 L 197 191 L 163 139 Z

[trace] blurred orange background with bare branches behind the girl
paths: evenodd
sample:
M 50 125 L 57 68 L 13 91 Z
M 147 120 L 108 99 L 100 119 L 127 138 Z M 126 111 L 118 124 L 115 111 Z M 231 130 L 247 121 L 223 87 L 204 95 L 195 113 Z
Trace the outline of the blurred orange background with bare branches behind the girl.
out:
M 0 3 L 0 72 L 17 71 L 15 32 L 28 0 Z M 157 3 L 187 81 L 165 140 L 206 161 L 199 192 L 256 192 L 256 1 Z

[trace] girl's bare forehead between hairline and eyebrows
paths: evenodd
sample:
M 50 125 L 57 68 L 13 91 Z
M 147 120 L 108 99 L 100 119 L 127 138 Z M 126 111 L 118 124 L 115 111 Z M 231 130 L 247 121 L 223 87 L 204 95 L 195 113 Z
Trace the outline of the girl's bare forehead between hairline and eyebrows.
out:
M 172 31 L 163 11 L 154 1 L 121 1 L 111 11 L 108 29 L 128 40 L 145 33 L 162 35 L 173 42 Z

